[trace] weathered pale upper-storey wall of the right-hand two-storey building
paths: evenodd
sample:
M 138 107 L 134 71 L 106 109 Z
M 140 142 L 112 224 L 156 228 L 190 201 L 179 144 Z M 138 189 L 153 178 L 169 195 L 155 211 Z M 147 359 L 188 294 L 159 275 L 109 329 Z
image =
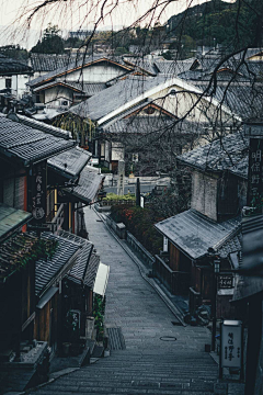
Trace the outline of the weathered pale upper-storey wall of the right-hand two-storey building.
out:
M 191 208 L 217 221 L 217 179 L 194 171 Z

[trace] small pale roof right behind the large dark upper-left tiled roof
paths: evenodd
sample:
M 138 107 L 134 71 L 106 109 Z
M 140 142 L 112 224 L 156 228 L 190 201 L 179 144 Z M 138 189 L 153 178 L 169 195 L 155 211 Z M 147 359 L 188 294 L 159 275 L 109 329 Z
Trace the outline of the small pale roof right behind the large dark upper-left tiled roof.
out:
M 65 176 L 77 177 L 91 158 L 91 154 L 80 147 L 73 147 L 47 160 L 49 167 Z

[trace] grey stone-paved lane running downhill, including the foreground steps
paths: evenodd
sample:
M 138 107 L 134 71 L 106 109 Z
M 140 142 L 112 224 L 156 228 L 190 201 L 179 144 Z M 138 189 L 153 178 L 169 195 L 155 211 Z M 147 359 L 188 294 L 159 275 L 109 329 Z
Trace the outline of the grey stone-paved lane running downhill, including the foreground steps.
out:
M 58 379 L 37 394 L 214 394 L 217 364 L 204 351 L 210 341 L 208 330 L 173 326 L 172 313 L 93 210 L 85 210 L 85 222 L 101 261 L 111 267 L 106 325 L 122 328 L 126 349 L 111 351 L 110 358 Z

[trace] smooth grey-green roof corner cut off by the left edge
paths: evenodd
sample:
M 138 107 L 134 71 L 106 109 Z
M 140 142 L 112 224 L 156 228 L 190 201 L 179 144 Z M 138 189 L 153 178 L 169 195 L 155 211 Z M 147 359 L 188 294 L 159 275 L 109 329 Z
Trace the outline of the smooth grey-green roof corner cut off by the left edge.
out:
M 24 225 L 31 217 L 32 214 L 27 212 L 0 203 L 0 241 L 2 241 L 10 232 Z

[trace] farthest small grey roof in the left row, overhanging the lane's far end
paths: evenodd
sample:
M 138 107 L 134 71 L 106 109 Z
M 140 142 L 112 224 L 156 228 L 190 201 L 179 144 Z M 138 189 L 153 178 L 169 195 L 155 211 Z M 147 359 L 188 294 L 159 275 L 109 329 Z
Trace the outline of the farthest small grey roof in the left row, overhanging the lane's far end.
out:
M 65 191 L 72 194 L 83 203 L 91 203 L 96 196 L 104 176 L 84 168 L 80 173 L 79 183 L 73 188 L 66 188 Z

